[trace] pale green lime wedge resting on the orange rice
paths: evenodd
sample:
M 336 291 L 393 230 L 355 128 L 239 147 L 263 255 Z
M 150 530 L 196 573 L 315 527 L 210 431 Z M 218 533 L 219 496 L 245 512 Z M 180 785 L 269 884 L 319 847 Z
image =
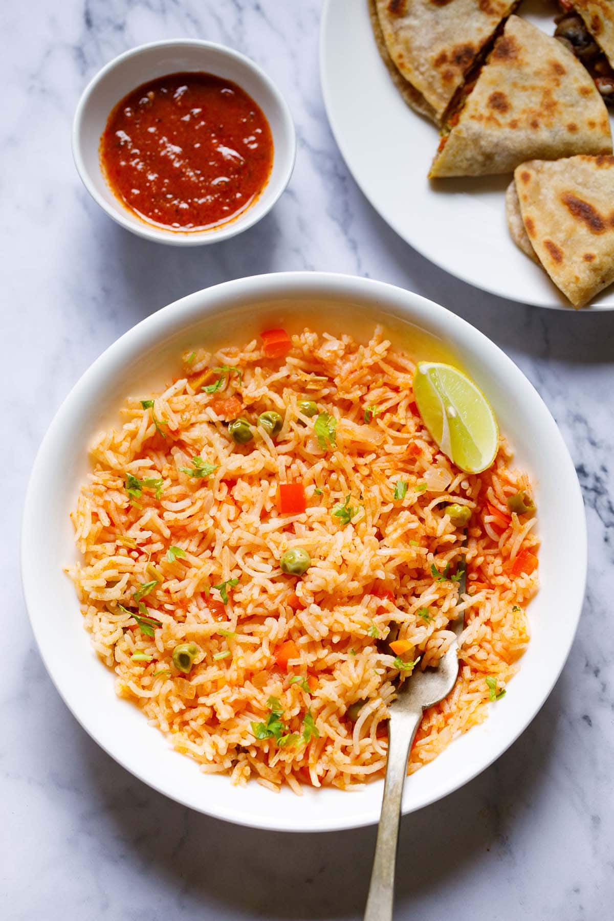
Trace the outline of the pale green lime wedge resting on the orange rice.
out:
M 424 425 L 450 461 L 467 473 L 491 466 L 499 446 L 497 420 L 466 374 L 452 365 L 421 361 L 413 395 Z

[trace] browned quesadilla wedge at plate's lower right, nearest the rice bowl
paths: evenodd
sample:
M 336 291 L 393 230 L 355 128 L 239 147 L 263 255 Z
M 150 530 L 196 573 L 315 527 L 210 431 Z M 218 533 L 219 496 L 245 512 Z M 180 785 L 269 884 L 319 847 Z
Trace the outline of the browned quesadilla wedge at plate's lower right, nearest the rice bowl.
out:
M 516 169 L 514 185 L 506 200 L 512 237 L 584 307 L 614 282 L 614 157 L 532 160 Z

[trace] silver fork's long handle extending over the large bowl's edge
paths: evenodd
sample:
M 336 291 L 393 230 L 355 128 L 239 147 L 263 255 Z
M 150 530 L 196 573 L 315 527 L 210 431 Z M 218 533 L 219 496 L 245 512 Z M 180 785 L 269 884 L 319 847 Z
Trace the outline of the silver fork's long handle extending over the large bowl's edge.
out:
M 420 707 L 419 712 L 403 714 L 399 722 L 391 719 L 388 723 L 388 763 L 384 782 L 384 798 L 377 830 L 376 854 L 371 870 L 369 894 L 366 900 L 365 921 L 392 921 L 400 804 L 407 775 L 411 742 L 422 717 L 423 710 Z

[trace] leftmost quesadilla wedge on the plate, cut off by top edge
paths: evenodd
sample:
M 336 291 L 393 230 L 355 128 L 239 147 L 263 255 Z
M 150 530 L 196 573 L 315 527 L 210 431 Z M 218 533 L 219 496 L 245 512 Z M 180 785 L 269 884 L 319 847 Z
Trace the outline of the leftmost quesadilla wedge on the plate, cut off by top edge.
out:
M 369 2 L 377 10 L 377 45 L 388 70 L 396 70 L 414 88 L 432 111 L 429 117 L 439 123 L 471 64 L 518 0 Z

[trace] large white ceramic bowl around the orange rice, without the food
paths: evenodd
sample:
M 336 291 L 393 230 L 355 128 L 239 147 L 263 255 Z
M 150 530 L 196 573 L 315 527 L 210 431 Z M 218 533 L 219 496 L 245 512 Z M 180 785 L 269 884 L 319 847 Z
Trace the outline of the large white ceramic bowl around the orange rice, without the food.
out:
M 363 338 L 376 322 L 417 357 L 455 361 L 488 394 L 502 431 L 531 473 L 539 508 L 542 587 L 529 608 L 532 639 L 508 693 L 489 718 L 409 778 L 403 811 L 419 809 L 466 783 L 497 758 L 550 694 L 572 644 L 585 591 L 585 513 L 573 463 L 538 393 L 496 345 L 423 297 L 337 274 L 260 275 L 226 282 L 171 304 L 126 332 L 75 384 L 53 419 L 31 474 L 22 531 L 22 577 L 29 616 L 52 681 L 106 752 L 168 797 L 227 819 L 284 831 L 324 831 L 376 822 L 383 784 L 364 791 L 232 787 L 173 752 L 135 706 L 114 692 L 98 660 L 64 565 L 76 558 L 69 512 L 87 475 L 87 446 L 119 422 L 129 395 L 179 371 L 181 350 L 236 342 L 267 327 L 306 324 Z M 561 496 L 565 496 L 564 503 Z

